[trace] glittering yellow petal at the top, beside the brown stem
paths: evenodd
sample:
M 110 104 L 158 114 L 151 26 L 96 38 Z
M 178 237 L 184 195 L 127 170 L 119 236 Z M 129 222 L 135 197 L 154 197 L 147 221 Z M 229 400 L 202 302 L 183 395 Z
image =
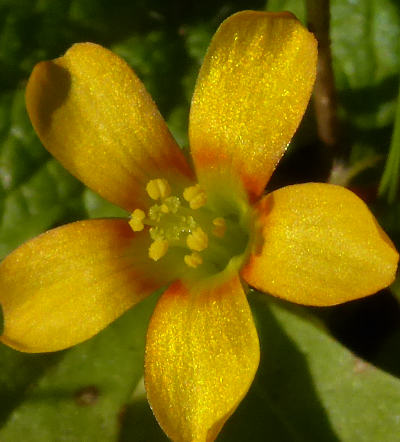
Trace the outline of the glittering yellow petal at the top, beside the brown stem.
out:
M 196 84 L 190 144 L 200 182 L 221 170 L 260 195 L 307 107 L 317 43 L 289 13 L 244 11 L 215 34 Z

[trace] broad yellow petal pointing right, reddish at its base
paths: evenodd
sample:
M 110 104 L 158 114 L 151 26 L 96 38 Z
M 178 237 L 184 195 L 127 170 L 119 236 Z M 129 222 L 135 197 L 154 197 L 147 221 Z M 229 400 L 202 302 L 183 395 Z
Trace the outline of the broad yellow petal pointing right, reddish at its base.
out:
M 262 243 L 242 271 L 257 289 L 300 304 L 334 305 L 394 280 L 396 249 L 363 201 L 344 187 L 284 187 L 257 210 Z

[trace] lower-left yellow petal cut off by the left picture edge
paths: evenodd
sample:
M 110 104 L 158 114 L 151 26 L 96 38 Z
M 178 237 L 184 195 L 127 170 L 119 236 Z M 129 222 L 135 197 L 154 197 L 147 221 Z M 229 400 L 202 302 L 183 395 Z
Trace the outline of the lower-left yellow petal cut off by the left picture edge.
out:
M 144 272 L 142 242 L 115 219 L 68 224 L 23 244 L 0 265 L 0 340 L 35 353 L 95 335 L 160 287 Z

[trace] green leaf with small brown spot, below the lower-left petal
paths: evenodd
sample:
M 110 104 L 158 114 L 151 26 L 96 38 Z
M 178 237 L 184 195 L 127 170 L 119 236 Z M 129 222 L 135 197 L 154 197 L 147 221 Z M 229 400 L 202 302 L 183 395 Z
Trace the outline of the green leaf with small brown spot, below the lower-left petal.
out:
M 116 440 L 124 404 L 143 376 L 145 335 L 155 299 L 67 351 L 27 355 L 2 345 L 0 440 Z

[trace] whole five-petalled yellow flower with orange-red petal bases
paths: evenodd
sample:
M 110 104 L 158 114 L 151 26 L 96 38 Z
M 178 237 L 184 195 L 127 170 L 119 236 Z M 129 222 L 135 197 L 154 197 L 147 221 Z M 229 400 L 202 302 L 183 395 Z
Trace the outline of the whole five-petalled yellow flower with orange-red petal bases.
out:
M 311 183 L 262 196 L 309 101 L 316 46 L 287 13 L 221 25 L 191 106 L 194 170 L 119 57 L 84 43 L 39 63 L 26 98 L 43 144 L 132 216 L 59 227 L 9 255 L 2 342 L 72 346 L 169 284 L 147 334 L 148 399 L 171 439 L 213 440 L 259 362 L 242 281 L 309 305 L 390 284 L 398 254 L 350 191 Z

